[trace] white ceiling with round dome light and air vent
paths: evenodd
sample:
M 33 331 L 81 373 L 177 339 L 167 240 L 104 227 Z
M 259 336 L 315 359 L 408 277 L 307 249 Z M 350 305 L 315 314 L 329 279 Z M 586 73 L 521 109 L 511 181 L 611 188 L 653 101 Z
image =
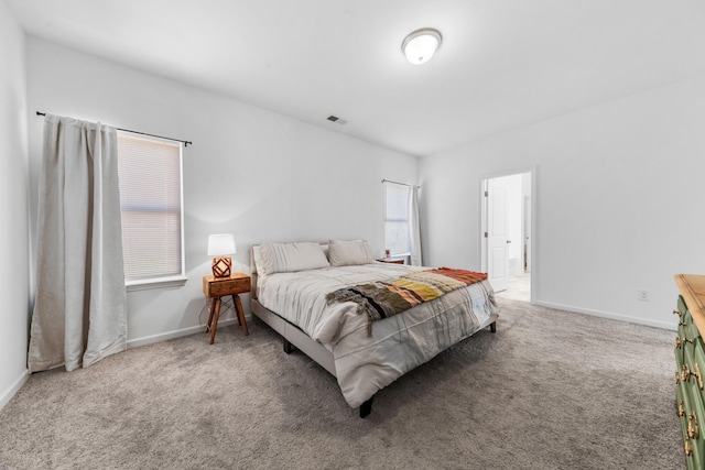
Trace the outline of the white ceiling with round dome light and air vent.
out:
M 705 0 L 4 1 L 29 34 L 419 156 L 705 72 Z M 419 28 L 444 41 L 411 65 Z

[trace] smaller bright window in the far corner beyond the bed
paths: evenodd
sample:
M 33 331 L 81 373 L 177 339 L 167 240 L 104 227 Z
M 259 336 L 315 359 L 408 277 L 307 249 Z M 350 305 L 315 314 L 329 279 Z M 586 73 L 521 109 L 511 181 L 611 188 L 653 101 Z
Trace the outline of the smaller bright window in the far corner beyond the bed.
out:
M 386 219 L 384 248 L 392 256 L 408 255 L 409 245 L 409 186 L 384 184 Z

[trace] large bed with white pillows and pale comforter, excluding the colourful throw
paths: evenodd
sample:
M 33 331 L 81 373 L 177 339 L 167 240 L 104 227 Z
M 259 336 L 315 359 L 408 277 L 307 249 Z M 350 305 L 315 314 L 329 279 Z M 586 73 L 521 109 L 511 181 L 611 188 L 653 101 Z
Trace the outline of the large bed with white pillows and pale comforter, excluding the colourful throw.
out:
M 496 331 L 498 307 L 487 280 L 464 285 L 398 315 L 371 321 L 333 293 L 389 283 L 431 267 L 376 261 L 366 242 L 263 243 L 251 248 L 251 310 L 336 376 L 346 402 L 371 412 L 375 394 L 482 328 Z M 333 297 L 332 297 L 333 296 Z

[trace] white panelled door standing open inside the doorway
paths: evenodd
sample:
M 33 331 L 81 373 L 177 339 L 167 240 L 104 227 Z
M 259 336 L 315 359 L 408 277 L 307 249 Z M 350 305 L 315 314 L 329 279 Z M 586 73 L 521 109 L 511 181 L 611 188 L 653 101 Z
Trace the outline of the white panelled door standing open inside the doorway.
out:
M 495 292 L 509 284 L 509 238 L 507 233 L 507 187 L 501 178 L 487 183 L 487 278 Z

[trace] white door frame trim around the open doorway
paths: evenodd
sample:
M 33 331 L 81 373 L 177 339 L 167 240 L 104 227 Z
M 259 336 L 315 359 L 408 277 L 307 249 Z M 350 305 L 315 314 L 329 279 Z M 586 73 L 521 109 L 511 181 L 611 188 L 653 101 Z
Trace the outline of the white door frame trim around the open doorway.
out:
M 539 250 L 536 249 L 536 232 L 538 232 L 538 201 L 536 201 L 536 181 L 539 166 L 529 166 L 529 167 L 519 167 L 514 170 L 507 170 L 503 172 L 492 172 L 486 173 L 479 176 L 479 228 L 480 231 L 478 233 L 478 242 L 477 250 L 480 259 L 480 266 L 484 273 L 487 272 L 487 242 L 485 239 L 485 231 L 487 231 L 487 205 L 485 204 L 485 183 L 487 179 L 501 178 L 503 176 L 512 176 L 512 175 L 521 175 L 524 173 L 529 173 L 531 178 L 531 234 L 529 238 L 529 244 L 531 250 L 531 303 L 535 303 L 536 292 L 539 287 L 539 272 L 540 264 L 539 260 Z

